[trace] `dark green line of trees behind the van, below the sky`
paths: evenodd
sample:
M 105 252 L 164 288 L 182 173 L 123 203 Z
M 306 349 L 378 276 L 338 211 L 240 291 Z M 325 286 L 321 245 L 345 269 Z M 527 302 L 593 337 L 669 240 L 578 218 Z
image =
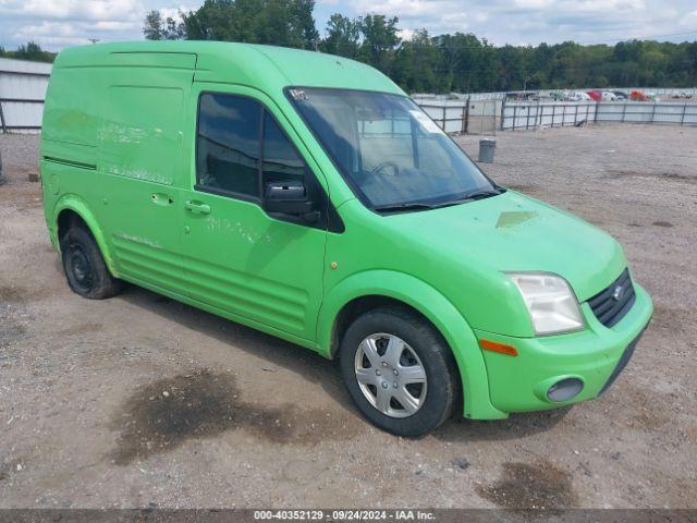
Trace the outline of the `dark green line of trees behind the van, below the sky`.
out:
M 409 93 L 697 85 L 697 41 L 493 46 L 472 33 L 431 36 L 426 29 L 403 39 L 396 16 L 341 13 L 320 35 L 314 8 L 314 0 L 206 0 L 174 19 L 151 11 L 144 35 L 329 52 L 368 63 Z

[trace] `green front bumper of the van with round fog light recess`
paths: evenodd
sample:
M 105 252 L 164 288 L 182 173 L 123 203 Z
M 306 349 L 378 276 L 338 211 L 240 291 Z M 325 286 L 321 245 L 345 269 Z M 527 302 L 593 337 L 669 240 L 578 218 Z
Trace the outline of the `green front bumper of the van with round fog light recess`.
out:
M 612 328 L 600 324 L 584 303 L 586 329 L 579 332 L 514 338 L 475 330 L 478 339 L 517 351 L 516 356 L 482 351 L 491 404 L 505 413 L 539 411 L 591 400 L 604 392 L 626 366 L 651 319 L 651 299 L 636 283 L 635 292 L 632 309 Z M 562 380 L 579 380 L 583 388 L 568 400 L 550 400 L 550 387 Z

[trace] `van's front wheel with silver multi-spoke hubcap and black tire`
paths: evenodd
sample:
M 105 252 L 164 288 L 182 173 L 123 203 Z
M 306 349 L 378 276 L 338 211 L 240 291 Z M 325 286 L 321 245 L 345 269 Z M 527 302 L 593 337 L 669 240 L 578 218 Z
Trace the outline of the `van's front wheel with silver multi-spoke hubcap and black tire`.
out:
M 377 427 L 419 437 L 452 415 L 460 393 L 455 361 L 420 316 L 396 307 L 369 311 L 348 327 L 339 350 L 348 394 Z

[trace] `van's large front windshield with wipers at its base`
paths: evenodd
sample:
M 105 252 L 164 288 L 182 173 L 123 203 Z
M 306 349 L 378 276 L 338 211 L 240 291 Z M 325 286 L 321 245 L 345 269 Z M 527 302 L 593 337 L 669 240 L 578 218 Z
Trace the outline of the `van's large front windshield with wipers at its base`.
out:
M 374 210 L 419 210 L 499 194 L 409 98 L 298 87 L 289 97 L 357 196 Z

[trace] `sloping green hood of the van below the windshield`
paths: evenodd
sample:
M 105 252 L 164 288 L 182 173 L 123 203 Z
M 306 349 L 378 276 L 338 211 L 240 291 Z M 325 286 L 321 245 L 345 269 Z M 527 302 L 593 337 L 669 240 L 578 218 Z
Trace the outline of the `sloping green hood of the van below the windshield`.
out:
M 432 253 L 455 256 L 465 267 L 560 275 L 579 302 L 600 292 L 626 267 L 622 247 L 608 233 L 514 191 L 386 219 Z

